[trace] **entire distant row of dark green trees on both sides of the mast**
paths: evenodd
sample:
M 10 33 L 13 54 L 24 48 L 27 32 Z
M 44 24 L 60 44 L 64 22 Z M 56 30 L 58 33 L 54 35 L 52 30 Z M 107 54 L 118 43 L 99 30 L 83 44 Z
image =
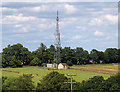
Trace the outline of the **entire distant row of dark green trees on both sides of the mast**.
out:
M 80 65 L 91 63 L 117 63 L 120 49 L 107 48 L 104 52 L 92 49 L 90 53 L 81 47 L 61 49 L 61 63 Z M 55 46 L 47 48 L 43 43 L 35 51 L 29 51 L 22 44 L 8 45 L 2 52 L 2 67 L 22 67 L 23 65 L 44 66 L 55 63 Z

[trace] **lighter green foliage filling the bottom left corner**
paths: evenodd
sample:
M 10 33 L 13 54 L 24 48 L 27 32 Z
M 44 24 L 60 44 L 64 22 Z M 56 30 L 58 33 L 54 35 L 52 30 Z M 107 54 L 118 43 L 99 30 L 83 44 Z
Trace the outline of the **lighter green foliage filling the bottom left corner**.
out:
M 16 79 L 3 78 L 3 90 L 33 90 L 35 88 L 31 74 L 23 74 Z

